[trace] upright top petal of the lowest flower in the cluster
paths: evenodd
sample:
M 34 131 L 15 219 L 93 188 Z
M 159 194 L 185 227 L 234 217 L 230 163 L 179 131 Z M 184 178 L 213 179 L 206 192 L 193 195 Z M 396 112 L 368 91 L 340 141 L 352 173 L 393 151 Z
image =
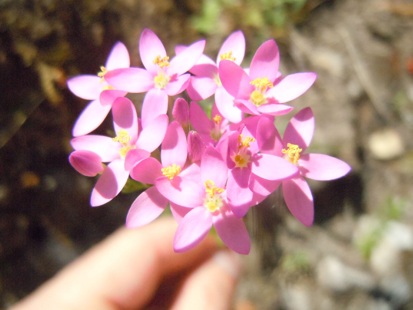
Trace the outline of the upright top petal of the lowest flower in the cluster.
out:
M 228 179 L 228 167 L 221 154 L 213 146 L 208 146 L 201 160 L 201 181 L 211 180 L 216 187 L 224 188 Z

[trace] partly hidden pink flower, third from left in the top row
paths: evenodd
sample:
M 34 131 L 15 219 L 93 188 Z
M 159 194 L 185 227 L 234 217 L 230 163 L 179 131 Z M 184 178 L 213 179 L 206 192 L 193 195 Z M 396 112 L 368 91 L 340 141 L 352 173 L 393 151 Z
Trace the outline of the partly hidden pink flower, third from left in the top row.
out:
M 221 60 L 229 60 L 240 65 L 244 59 L 244 53 L 244 34 L 240 30 L 231 33 L 222 44 L 216 62 L 202 55 L 195 66 L 190 69 L 190 72 L 195 76 L 191 76 L 187 88 L 191 99 L 196 101 L 207 99 L 215 94 L 215 103 L 219 112 L 225 119 L 233 123 L 241 122 L 243 113 L 234 105 L 234 97 L 222 87 L 218 75 L 218 65 Z

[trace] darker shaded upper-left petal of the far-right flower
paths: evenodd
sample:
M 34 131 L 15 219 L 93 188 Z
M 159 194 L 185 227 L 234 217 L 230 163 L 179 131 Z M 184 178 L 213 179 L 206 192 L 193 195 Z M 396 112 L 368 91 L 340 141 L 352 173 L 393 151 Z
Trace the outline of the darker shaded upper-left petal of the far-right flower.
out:
M 261 117 L 259 120 L 256 139 L 261 153 L 283 156 L 281 150 L 284 146 L 282 145 L 281 136 L 275 128 L 274 122 L 267 117 Z

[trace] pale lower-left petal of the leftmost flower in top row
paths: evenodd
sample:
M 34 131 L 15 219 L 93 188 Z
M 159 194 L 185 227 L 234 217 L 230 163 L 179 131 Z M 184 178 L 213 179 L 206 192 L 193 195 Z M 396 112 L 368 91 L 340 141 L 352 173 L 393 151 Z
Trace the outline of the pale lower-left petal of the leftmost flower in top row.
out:
M 99 100 L 90 101 L 73 126 L 73 136 L 84 136 L 95 130 L 102 124 L 110 109 L 110 105 L 102 106 Z

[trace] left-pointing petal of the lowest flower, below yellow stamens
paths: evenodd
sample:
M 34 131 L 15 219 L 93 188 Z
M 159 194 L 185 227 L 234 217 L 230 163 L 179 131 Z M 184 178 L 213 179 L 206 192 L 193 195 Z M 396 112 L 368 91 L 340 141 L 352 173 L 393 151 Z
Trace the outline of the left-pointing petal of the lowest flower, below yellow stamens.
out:
M 190 179 L 175 176 L 168 180 L 162 176 L 155 180 L 155 186 L 159 193 L 177 205 L 193 208 L 204 204 L 204 189 Z

